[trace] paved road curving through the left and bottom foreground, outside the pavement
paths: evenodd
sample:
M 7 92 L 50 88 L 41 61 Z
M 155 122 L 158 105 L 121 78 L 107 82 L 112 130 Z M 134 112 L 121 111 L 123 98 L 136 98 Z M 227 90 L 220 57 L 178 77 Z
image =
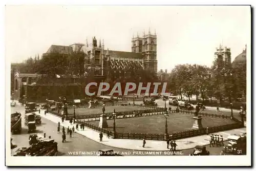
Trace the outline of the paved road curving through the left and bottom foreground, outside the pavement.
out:
M 24 124 L 24 111 L 25 108 L 24 106 L 19 106 L 16 105 L 15 107 L 11 108 L 11 112 L 20 112 L 22 113 L 22 133 L 20 135 L 12 135 L 13 138 L 13 144 L 18 145 L 17 148 L 19 147 L 28 147 L 29 143 L 28 143 L 28 139 L 29 139 L 29 134 L 27 133 L 27 127 Z M 61 127 L 62 129 L 62 127 Z M 74 154 L 71 155 L 69 154 L 69 152 L 97 152 L 99 149 L 103 149 L 103 148 L 111 148 L 114 149 L 115 152 L 119 152 L 119 154 L 121 154 L 122 152 L 126 153 L 127 155 L 129 155 L 129 153 L 131 155 L 143 155 L 143 152 L 141 152 L 141 154 L 139 154 L 140 152 L 138 151 L 132 151 L 132 150 L 126 150 L 126 149 L 121 149 L 121 148 L 113 148 L 113 147 L 109 147 L 106 145 L 102 145 L 98 142 L 95 142 L 87 137 L 84 137 L 80 134 L 73 134 L 72 138 L 70 138 L 67 135 L 67 142 L 62 143 L 61 142 L 61 134 L 57 133 L 57 124 L 42 118 L 42 124 L 37 126 L 37 133 L 39 134 L 43 134 L 46 133 L 47 136 L 51 136 L 56 142 L 58 142 L 58 156 L 75 156 Z M 103 140 L 104 141 L 104 140 Z M 206 146 L 207 150 L 210 151 L 210 155 L 219 155 L 221 150 L 223 149 L 223 147 L 209 147 L 208 145 Z M 16 151 L 17 148 L 14 148 L 12 150 L 12 154 Z M 193 149 L 187 149 L 184 151 L 181 151 L 182 155 L 189 155 L 193 152 Z M 150 154 L 148 154 L 150 155 Z M 154 154 L 151 154 L 154 155 Z M 157 154 L 155 154 L 157 155 Z M 173 156 L 172 153 L 167 153 L 164 154 L 164 152 L 161 153 L 161 155 L 171 155 Z M 91 155 L 91 156 L 96 156 L 96 153 Z M 126 156 L 124 154 L 124 156 Z

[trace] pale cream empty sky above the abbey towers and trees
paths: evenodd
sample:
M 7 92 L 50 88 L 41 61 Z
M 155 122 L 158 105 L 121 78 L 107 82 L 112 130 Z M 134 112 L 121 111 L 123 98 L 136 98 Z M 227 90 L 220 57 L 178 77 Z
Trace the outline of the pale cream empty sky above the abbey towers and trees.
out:
M 211 66 L 220 44 L 231 59 L 250 46 L 249 6 L 6 6 L 6 58 L 22 62 L 51 45 L 89 44 L 131 52 L 131 38 L 157 34 L 158 70 L 183 63 Z

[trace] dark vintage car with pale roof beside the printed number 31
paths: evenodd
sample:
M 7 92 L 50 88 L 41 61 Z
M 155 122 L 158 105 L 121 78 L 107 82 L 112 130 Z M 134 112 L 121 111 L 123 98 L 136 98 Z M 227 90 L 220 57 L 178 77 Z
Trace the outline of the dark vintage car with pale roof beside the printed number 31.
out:
M 233 155 L 242 155 L 246 152 L 246 134 L 232 134 L 227 137 L 228 145 L 224 146 L 224 152 Z

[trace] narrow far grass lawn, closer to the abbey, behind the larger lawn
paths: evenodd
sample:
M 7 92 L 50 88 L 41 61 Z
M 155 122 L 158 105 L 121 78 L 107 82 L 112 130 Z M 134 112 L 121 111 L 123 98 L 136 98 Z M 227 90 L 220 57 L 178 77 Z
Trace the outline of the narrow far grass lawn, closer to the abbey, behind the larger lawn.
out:
M 138 106 L 105 106 L 105 113 L 114 112 L 124 112 L 124 111 L 138 111 L 138 110 L 146 110 L 145 108 L 140 108 Z M 76 115 L 89 115 L 89 114 L 98 114 L 102 113 L 102 107 L 96 108 L 76 108 L 75 109 Z M 71 115 L 74 114 L 74 108 L 69 108 L 68 113 Z

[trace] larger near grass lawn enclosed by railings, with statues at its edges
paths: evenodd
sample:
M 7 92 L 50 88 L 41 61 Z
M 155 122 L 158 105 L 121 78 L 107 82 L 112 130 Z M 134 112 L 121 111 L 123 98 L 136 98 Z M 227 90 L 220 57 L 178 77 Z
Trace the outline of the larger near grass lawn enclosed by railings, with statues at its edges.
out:
M 98 125 L 99 121 L 92 121 Z M 168 133 L 190 130 L 193 126 L 193 116 L 187 114 L 174 113 L 167 118 Z M 229 119 L 203 117 L 203 127 L 219 126 L 224 124 L 236 123 Z M 108 120 L 109 129 L 113 129 L 113 120 Z M 116 119 L 116 131 L 119 133 L 148 133 L 164 134 L 165 117 L 163 115 L 134 117 Z

